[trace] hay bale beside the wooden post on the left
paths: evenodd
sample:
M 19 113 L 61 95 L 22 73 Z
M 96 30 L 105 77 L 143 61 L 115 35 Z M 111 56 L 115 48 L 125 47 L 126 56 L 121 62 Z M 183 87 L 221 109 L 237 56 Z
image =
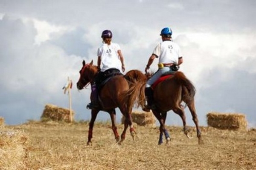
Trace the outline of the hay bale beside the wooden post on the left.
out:
M 71 111 L 71 118 L 73 120 L 74 111 Z M 44 112 L 41 115 L 41 121 L 44 120 L 52 120 L 52 121 L 64 121 L 64 122 L 71 122 L 70 120 L 70 110 L 57 107 L 52 104 L 46 104 L 44 107 Z

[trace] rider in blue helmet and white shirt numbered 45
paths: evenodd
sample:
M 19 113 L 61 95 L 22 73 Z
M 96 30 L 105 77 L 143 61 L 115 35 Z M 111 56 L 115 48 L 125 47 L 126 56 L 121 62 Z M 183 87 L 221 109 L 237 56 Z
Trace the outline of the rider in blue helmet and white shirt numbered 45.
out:
M 183 63 L 180 47 L 172 41 L 172 29 L 169 27 L 163 28 L 160 36 L 162 37 L 162 42 L 158 43 L 154 48 L 145 68 L 145 72 L 147 73 L 154 59 L 158 58 L 158 70 L 150 79 L 148 79 L 145 86 L 147 106 L 143 108 L 143 110 L 146 112 L 149 112 L 150 109 L 155 109 L 153 89 L 151 88 L 151 85 L 164 73 L 176 72 L 179 69 L 180 64 Z

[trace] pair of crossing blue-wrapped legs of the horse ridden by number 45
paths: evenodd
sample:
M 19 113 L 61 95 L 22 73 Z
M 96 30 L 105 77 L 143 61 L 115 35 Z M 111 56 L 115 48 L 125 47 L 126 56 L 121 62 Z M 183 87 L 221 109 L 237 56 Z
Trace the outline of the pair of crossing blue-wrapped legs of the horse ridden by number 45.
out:
M 166 137 L 166 144 L 168 144 L 169 141 L 171 140 L 171 138 L 170 138 L 170 135 L 169 135 L 168 131 L 165 128 L 165 121 L 166 121 L 167 112 L 163 112 L 161 114 L 157 110 L 152 110 L 152 111 L 153 111 L 154 116 L 157 118 L 157 120 L 160 123 L 160 127 L 159 127 L 160 135 L 159 135 L 158 145 L 161 145 L 163 143 L 163 134 Z

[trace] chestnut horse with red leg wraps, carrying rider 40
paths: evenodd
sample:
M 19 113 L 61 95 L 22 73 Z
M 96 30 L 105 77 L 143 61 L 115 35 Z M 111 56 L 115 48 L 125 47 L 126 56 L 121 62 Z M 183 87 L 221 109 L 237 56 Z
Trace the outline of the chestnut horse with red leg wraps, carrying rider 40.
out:
M 79 90 L 83 89 L 89 83 L 93 82 L 96 74 L 99 72 L 97 66 L 93 65 L 93 61 L 87 64 L 85 63 L 85 61 L 83 61 L 82 64 L 83 66 L 79 72 L 80 78 L 76 84 Z M 93 125 L 97 117 L 97 114 L 100 110 L 108 112 L 110 114 L 112 130 L 116 142 L 119 142 L 119 144 L 121 144 L 121 142 L 125 140 L 125 133 L 128 126 L 130 126 L 130 133 L 134 138 L 136 133 L 131 121 L 131 110 L 134 105 L 134 101 L 137 100 L 136 96 L 139 95 L 137 94 L 138 92 L 140 92 L 140 90 L 138 89 L 140 89 L 141 87 L 133 85 L 135 88 L 133 88 L 133 90 L 130 90 L 129 94 L 123 94 L 128 91 L 132 84 L 136 84 L 138 82 L 138 79 L 143 77 L 143 73 L 139 70 L 132 70 L 130 72 L 127 72 L 126 75 L 115 75 L 108 82 L 106 82 L 106 84 L 102 87 L 102 89 L 99 92 L 99 102 L 101 107 L 91 110 L 91 119 L 89 124 L 87 144 L 92 143 L 91 139 L 93 138 Z M 120 109 L 120 111 L 126 118 L 124 123 L 124 130 L 121 134 L 121 140 L 116 127 L 115 108 L 117 107 Z

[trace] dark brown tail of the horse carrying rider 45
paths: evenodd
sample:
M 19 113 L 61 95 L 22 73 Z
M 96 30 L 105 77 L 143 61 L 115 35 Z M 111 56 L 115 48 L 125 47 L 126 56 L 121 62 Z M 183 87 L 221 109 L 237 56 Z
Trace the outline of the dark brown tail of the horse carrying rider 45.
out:
M 182 100 L 185 101 L 186 104 L 190 104 L 194 101 L 196 92 L 195 86 L 186 78 L 183 72 L 175 72 L 173 78 L 175 82 L 178 82 L 182 86 Z

